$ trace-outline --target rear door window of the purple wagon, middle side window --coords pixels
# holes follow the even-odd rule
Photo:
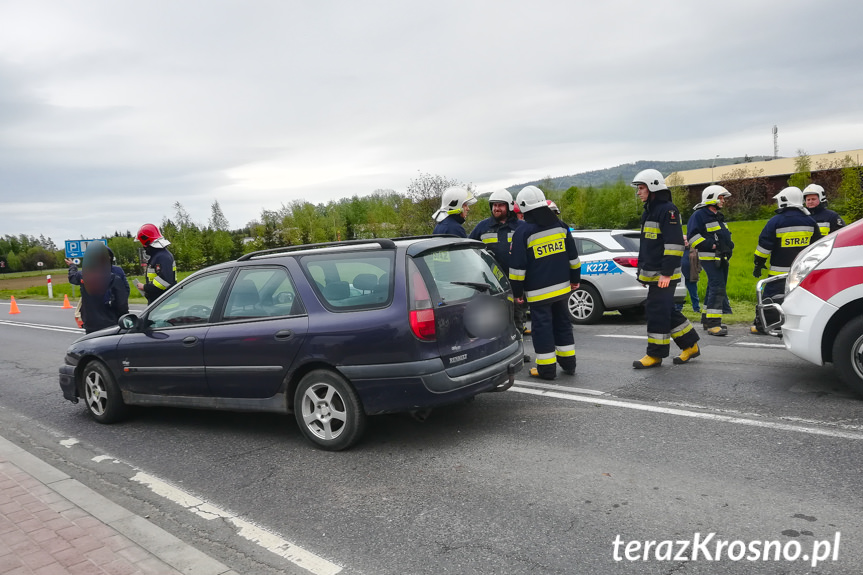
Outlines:
[[[254,319],[304,313],[288,271],[283,267],[240,270],[225,305],[224,319]]]

